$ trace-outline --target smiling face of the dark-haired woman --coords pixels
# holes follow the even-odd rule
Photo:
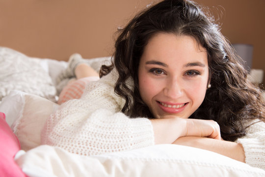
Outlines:
[[[141,98],[155,118],[189,118],[207,90],[206,49],[190,36],[157,33],[144,49],[138,79]]]

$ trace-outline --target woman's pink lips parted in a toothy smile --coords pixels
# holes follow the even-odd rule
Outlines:
[[[185,109],[185,106],[187,103],[178,103],[178,104],[173,104],[173,103],[165,103],[165,102],[159,102],[157,101],[159,107],[162,109],[162,111],[171,113],[171,114],[176,114],[180,113]]]

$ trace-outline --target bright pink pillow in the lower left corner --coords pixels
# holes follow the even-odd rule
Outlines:
[[[0,112],[0,174],[1,177],[26,177],[14,161],[20,144],[5,121],[4,113]]]

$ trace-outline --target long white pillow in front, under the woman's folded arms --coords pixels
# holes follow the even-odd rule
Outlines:
[[[15,161],[30,177],[265,177],[262,169],[180,145],[156,145],[97,156],[81,156],[43,145],[19,151]]]

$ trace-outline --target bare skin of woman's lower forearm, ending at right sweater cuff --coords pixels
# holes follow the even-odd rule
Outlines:
[[[210,150],[240,162],[245,162],[244,149],[241,144],[205,137],[181,137],[173,144]]]

